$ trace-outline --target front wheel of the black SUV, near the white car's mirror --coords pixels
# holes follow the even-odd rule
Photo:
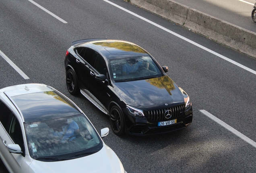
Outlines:
[[[118,106],[110,110],[110,125],[116,135],[124,135],[124,113]]]

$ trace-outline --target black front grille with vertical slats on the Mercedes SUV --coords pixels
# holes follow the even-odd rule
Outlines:
[[[172,112],[172,116],[170,119],[175,119],[182,116],[185,112],[185,105],[171,107],[169,109],[159,109],[153,111],[144,111],[145,116],[150,121],[167,121],[168,119],[165,118],[165,111],[170,110]]]

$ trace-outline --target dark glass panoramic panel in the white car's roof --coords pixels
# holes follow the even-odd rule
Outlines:
[[[81,114],[55,91],[43,91],[11,97],[21,110],[25,123]]]

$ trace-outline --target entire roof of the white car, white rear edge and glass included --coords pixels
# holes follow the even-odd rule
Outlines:
[[[81,114],[69,99],[45,84],[21,84],[1,92],[12,101],[25,123]]]

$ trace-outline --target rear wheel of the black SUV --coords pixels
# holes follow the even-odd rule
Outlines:
[[[66,86],[71,95],[77,95],[79,93],[78,81],[72,69],[68,69],[66,73]]]

